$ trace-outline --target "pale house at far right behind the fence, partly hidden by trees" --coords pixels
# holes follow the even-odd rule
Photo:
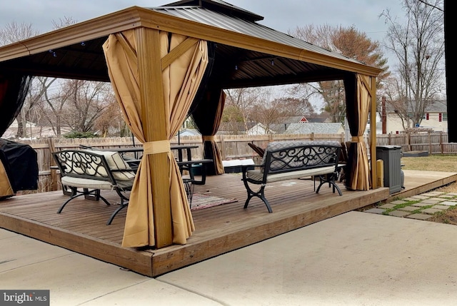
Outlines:
[[[426,107],[421,125],[417,128],[427,128],[436,132],[448,131],[448,113],[446,101],[435,101]],[[386,133],[398,134],[404,131],[401,118],[394,108],[386,105]]]

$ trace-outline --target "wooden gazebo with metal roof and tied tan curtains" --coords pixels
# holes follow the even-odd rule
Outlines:
[[[179,1],[132,6],[3,46],[0,121],[12,122],[31,76],[111,82],[126,122],[144,146],[126,216],[125,247],[164,248],[185,244],[191,236],[194,223],[169,140],[189,112],[197,124],[199,118],[214,117],[201,125],[209,124],[204,141],[214,149],[214,172],[220,173],[212,136],[224,88],[343,80],[352,136],[346,187],[377,188],[376,166],[368,165],[361,136],[371,116],[369,150],[376,156],[381,70],[269,29],[257,23],[262,19],[220,0]]]

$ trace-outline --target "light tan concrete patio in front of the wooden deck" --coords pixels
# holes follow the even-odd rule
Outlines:
[[[0,230],[0,290],[49,289],[59,306],[455,305],[456,237],[350,212],[153,279]]]

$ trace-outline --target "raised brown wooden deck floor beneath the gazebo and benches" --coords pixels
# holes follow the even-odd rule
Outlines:
[[[424,193],[456,180],[457,173],[405,171],[406,189],[400,193],[389,195],[388,188],[349,191],[341,184],[343,196],[326,186],[319,194],[314,193],[312,180],[288,180],[266,188],[273,208],[273,213],[268,213],[257,198],[243,209],[246,191],[241,175],[211,176],[206,185],[196,185],[195,193],[236,198],[238,202],[195,210],[196,230],[188,243],[160,250],[121,248],[126,210],[106,225],[117,205],[106,206],[102,201],[81,198],[57,214],[68,198],[61,191],[16,195],[1,201],[0,228],[156,277],[341,213]],[[118,202],[114,191],[103,194],[111,203]]]

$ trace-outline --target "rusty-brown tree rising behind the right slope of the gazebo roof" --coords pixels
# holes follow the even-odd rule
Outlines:
[[[371,66],[383,69],[378,76],[378,88],[381,81],[388,76],[387,59],[383,56],[378,41],[371,41],[366,34],[357,31],[354,26],[313,26],[297,27],[291,32],[292,36],[316,44],[333,52],[341,53],[350,58],[356,58]],[[301,95],[299,94],[301,93]],[[344,84],[341,80],[323,81],[318,83],[297,84],[291,88],[291,94],[301,98],[320,96],[323,99],[322,111],[331,116],[332,122],[344,122],[346,116],[346,99]]]

